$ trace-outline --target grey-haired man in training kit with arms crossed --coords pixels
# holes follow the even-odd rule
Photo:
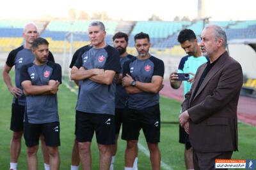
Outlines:
[[[109,170],[110,145],[115,143],[115,75],[120,73],[118,51],[105,42],[105,26],[88,27],[92,47],[79,55],[71,79],[79,81],[76,106],[76,140],[83,169],[92,169],[90,145],[94,131],[100,152],[100,169]]]

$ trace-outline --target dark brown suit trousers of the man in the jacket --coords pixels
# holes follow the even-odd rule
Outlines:
[[[230,152],[197,152],[193,149],[193,164],[195,170],[213,170],[215,169],[215,159],[231,159]]]

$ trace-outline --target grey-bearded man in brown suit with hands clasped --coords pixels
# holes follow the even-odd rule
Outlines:
[[[214,169],[215,159],[230,159],[237,150],[237,103],[243,85],[240,64],[225,50],[221,27],[202,31],[200,48],[209,62],[198,68],[182,103],[179,122],[189,133],[195,169]]]

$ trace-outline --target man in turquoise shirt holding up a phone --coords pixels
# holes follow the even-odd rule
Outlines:
[[[182,57],[177,72],[170,74],[170,84],[173,89],[179,89],[182,81],[179,80],[177,73],[188,73],[195,76],[196,70],[199,66],[207,62],[207,58],[202,56],[200,46],[198,45],[195,32],[191,29],[184,29],[180,31],[178,36],[180,46],[188,54]],[[189,80],[183,81],[184,95],[189,92],[194,78],[190,77]],[[179,143],[185,144],[184,160],[186,169],[194,169],[193,167],[193,152],[191,144],[189,143],[188,134],[184,128],[179,125]]]

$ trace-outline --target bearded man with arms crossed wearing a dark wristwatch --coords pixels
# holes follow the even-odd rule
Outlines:
[[[133,169],[138,137],[143,129],[152,169],[161,167],[159,90],[164,76],[164,62],[148,53],[150,39],[140,32],[134,36],[138,57],[124,63],[122,84],[129,94],[124,110],[122,139],[127,140],[125,170]]]

